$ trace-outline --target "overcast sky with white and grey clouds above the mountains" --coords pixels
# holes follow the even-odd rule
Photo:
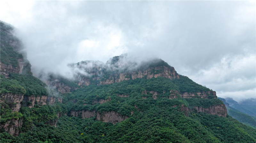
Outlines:
[[[237,101],[256,98],[255,1],[1,1],[34,73],[124,53],[158,57]]]

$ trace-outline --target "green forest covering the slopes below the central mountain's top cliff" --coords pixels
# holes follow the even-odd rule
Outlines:
[[[25,79],[26,76],[28,75],[11,74],[8,80],[16,80],[22,87],[25,83],[40,85],[36,79],[32,80],[29,77]],[[26,87],[24,86],[24,89]],[[170,96],[170,90],[182,92],[184,87],[189,92],[210,91],[185,76],[173,80],[158,77],[128,80],[111,85],[92,84],[65,94],[62,104],[51,106],[36,104],[34,108],[22,107],[19,113],[3,111],[5,121],[8,118],[23,118],[23,125],[17,137],[1,130],[1,142],[253,143],[256,141],[256,129],[241,124],[229,116],[223,118],[204,113],[188,113],[182,109],[194,106],[207,108],[211,105],[223,104],[219,99],[166,98]],[[145,90],[158,92],[157,99],[155,100],[149,92],[147,95],[144,94]],[[121,94],[129,97],[118,97]],[[102,99],[105,103],[100,104]],[[96,116],[85,119],[70,117],[70,110],[94,110],[99,113],[116,111],[129,118],[113,125],[97,121]],[[65,115],[66,113],[68,116]],[[58,114],[61,115],[59,120]],[[57,126],[54,127],[57,120]]]

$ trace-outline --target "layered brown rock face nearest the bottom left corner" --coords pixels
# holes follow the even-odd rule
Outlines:
[[[1,124],[1,129],[10,133],[13,136],[18,136],[20,133],[19,127],[23,124],[23,118],[11,119],[5,124]]]

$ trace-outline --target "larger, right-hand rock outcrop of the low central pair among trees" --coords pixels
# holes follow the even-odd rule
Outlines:
[[[115,111],[103,112],[101,114],[99,112],[97,112],[97,117],[96,117],[96,119],[99,121],[110,122],[112,124],[116,124],[117,122],[122,122],[127,118],[128,118],[127,116],[120,115],[119,113],[116,113]]]

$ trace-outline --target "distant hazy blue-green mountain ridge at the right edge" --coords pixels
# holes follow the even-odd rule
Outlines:
[[[232,108],[230,106],[230,104],[228,104],[226,102],[226,100],[224,98],[220,98],[220,97],[218,97],[218,98],[220,100],[222,100],[223,103],[225,104],[229,116],[231,116],[232,118],[235,118],[236,120],[238,120],[241,123],[244,123],[245,125],[249,125],[249,126],[256,128],[256,118],[255,117],[249,116],[244,112],[241,112],[239,110],[236,110],[235,108]],[[234,102],[234,100],[233,100],[233,103],[237,103],[237,102]],[[246,110],[246,112],[249,112],[249,111]],[[249,113],[251,113],[251,112],[249,112]]]

